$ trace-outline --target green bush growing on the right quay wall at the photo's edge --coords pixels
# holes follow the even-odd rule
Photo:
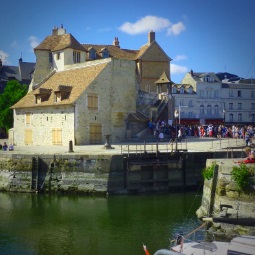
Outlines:
[[[249,185],[253,183],[251,178],[254,175],[254,169],[241,163],[240,166],[234,166],[231,171],[233,180],[237,183],[240,190],[247,190]]]

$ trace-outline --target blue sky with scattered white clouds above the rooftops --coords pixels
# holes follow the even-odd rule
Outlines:
[[[63,24],[80,43],[139,49],[150,30],[172,58],[171,79],[186,72],[255,78],[255,0],[0,0],[0,58],[35,62],[33,48]]]

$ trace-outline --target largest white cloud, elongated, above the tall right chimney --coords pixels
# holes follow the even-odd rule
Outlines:
[[[168,19],[156,16],[145,16],[135,23],[125,22],[119,29],[130,35],[147,33],[150,30],[160,31],[171,26]]]

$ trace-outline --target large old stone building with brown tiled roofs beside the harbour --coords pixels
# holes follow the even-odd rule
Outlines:
[[[155,97],[155,82],[162,73],[170,76],[171,59],[153,31],[140,50],[126,50],[118,38],[113,45],[81,44],[63,26],[54,27],[34,51],[29,93],[12,107],[16,145],[101,144],[106,135],[123,141],[149,120],[137,112],[138,91]]]

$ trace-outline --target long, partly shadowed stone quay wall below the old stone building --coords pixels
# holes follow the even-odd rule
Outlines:
[[[2,154],[0,191],[128,194],[201,185],[212,153],[127,155]]]

